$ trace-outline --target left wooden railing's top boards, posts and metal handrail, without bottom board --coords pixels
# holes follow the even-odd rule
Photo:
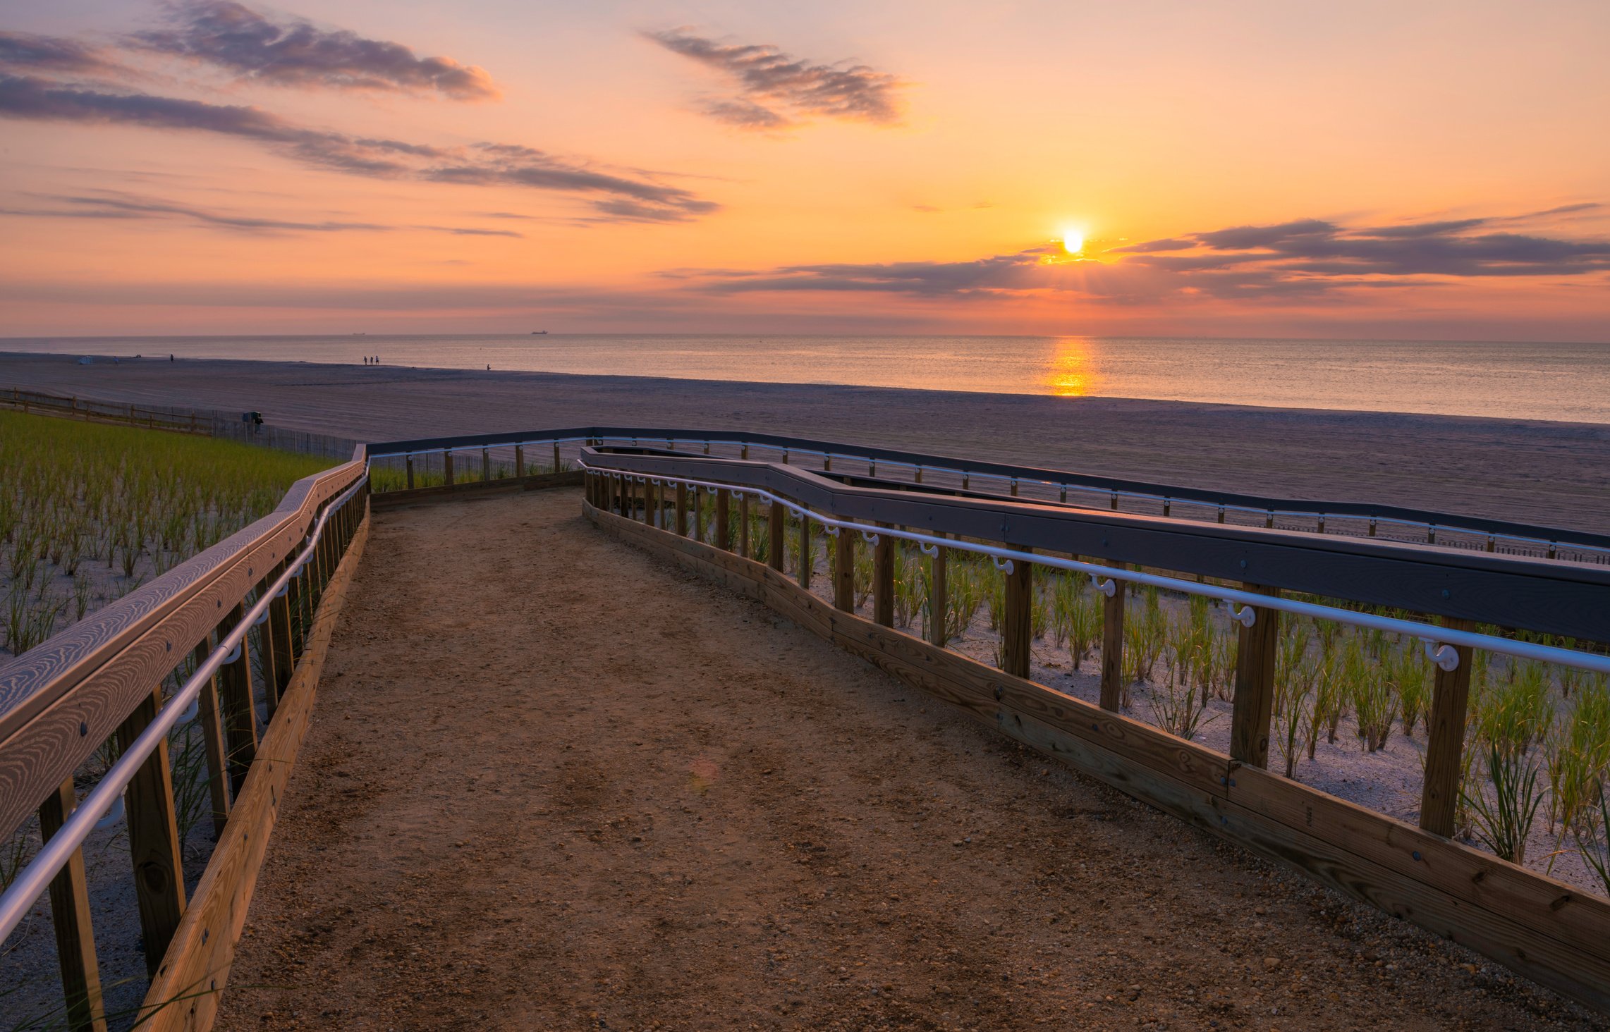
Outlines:
[[[127,823],[156,976],[187,913],[167,731],[198,710],[208,716],[208,779],[222,829],[253,771],[259,700],[272,721],[362,522],[367,486],[357,448],[349,462],[291,485],[272,514],[0,667],[0,836],[37,810],[43,837],[0,895],[0,940],[48,887],[69,1027],[105,1027],[84,840],[97,823]],[[188,662],[195,673],[164,699],[164,679]],[[108,739],[119,758],[79,802],[72,774]]]

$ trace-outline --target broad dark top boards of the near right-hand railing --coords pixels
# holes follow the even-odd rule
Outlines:
[[[650,477],[713,478],[787,494],[865,523],[1011,541],[1035,551],[1388,605],[1417,613],[1610,641],[1610,568],[1430,547],[1380,538],[1319,536],[1055,502],[902,486],[773,462],[644,449],[581,451],[584,462]],[[1008,530],[1003,530],[1003,525]]]

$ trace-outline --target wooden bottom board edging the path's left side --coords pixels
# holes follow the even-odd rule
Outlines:
[[[308,633],[306,650],[280,699],[274,723],[262,737],[258,762],[246,774],[224,836],[196,885],[195,898],[151,979],[151,989],[142,1005],[142,1016],[148,1016],[142,1029],[167,1032],[213,1027],[217,998],[229,979],[235,943],[245,927],[258,871],[262,868],[269,836],[285,795],[285,782],[308,734],[330,634],[335,631],[335,620],[362,560],[367,539],[365,515],[346,549],[346,557],[325,586],[324,602]]]

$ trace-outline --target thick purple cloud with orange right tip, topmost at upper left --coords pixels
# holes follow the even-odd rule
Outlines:
[[[320,29],[291,18],[272,21],[229,0],[190,0],[171,8],[166,29],[137,32],[132,47],[211,64],[254,82],[330,90],[435,92],[451,100],[496,100],[483,69],[452,58],[420,58],[402,43]]]

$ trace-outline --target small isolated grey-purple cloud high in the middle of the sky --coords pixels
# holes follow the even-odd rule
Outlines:
[[[898,126],[898,77],[865,64],[810,64],[770,43],[718,43],[689,29],[646,39],[729,77],[739,95],[708,101],[705,114],[739,129],[774,130],[818,116]]]

